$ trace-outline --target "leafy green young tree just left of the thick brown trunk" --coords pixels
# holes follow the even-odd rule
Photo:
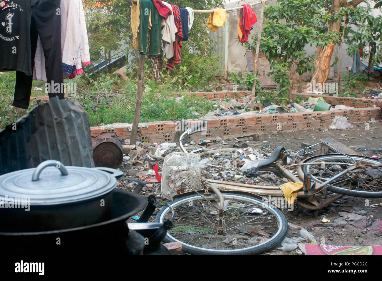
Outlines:
[[[324,7],[320,1],[310,0],[283,0],[265,6],[260,51],[270,63],[268,75],[278,83],[278,98],[282,102],[289,97],[291,76],[314,70],[316,55],[309,55],[305,47],[324,47],[338,38],[338,32],[327,31],[326,21],[332,15],[322,13]],[[246,47],[256,50],[256,32],[252,39]]]

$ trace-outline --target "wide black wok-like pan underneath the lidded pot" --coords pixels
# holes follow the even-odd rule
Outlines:
[[[131,235],[125,222],[143,210],[146,204],[147,200],[142,195],[115,188],[112,190],[111,216],[107,221],[55,231],[0,231],[0,243],[5,252],[17,257],[31,255],[31,258],[36,258],[40,255],[56,259],[60,254],[66,258],[68,253],[71,253],[71,260],[83,255],[100,260],[102,257],[111,258],[111,254],[119,257],[126,250],[134,252],[137,247],[143,249],[144,245],[135,245],[139,244],[137,239],[126,242]]]

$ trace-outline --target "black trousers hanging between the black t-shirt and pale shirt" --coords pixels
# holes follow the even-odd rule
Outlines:
[[[62,52],[61,52],[61,16],[57,12],[61,0],[42,0],[42,3],[32,8],[31,19],[31,53],[32,70],[36,54],[37,36],[40,36],[44,50],[45,71],[47,83],[63,83]],[[58,15],[57,15],[58,13]],[[61,85],[61,84],[60,84]],[[53,84],[54,86],[54,84]],[[60,89],[62,87],[60,86]],[[16,71],[16,86],[13,106],[28,109],[32,90],[32,76]],[[64,98],[64,93],[48,93],[49,97]]]

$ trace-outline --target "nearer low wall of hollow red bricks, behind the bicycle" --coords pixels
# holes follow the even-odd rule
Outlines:
[[[356,108],[351,110],[329,110],[312,113],[284,113],[284,114],[240,114],[236,116],[212,117],[206,119],[188,120],[191,125],[207,122],[206,133],[191,135],[191,140],[202,138],[234,138],[240,136],[253,136],[277,131],[309,130],[311,128],[327,128],[336,116],[345,116],[350,123],[369,121],[371,118],[382,119],[379,107]],[[172,121],[139,123],[137,141],[162,143],[175,141],[177,124]],[[91,127],[92,136],[101,132],[116,132],[120,140],[130,138],[131,132],[127,125],[106,125],[104,127]]]

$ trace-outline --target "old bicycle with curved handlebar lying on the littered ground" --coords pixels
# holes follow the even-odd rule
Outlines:
[[[204,125],[199,123],[180,136],[179,145],[185,153],[183,138],[202,132]],[[376,159],[324,154],[288,167],[288,155],[279,146],[269,159],[259,164],[258,170],[287,177],[291,182],[303,182],[293,203],[294,212],[297,205],[310,210],[322,209],[343,195],[382,197],[382,162]],[[176,167],[179,173],[181,166]],[[290,167],[297,170],[298,177]],[[163,180],[162,174],[162,183]],[[284,198],[279,186],[239,184],[202,176],[199,180],[202,189],[198,190],[185,180],[176,182],[175,201],[157,214],[157,222],[163,223],[173,215],[170,207],[175,212],[174,227],[168,230],[165,242],[181,242],[183,251],[191,254],[257,254],[273,249],[285,238],[286,218],[268,199]],[[191,191],[183,192],[186,187]]]

